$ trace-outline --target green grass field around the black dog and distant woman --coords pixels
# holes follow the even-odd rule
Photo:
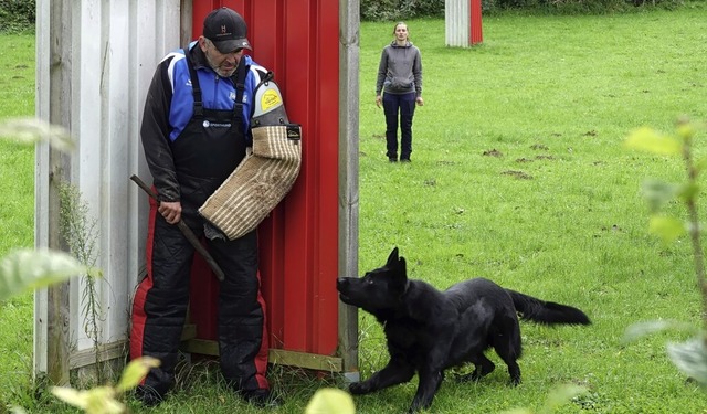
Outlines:
[[[682,181],[683,167],[623,146],[639,126],[672,131],[683,114],[707,119],[707,8],[693,4],[630,15],[487,18],[484,43],[467,50],[444,46],[441,20],[409,21],[422,51],[425,99],[415,113],[410,164],[388,162],[374,105],[378,60],[393,23],[362,23],[361,272],[399,246],[411,276],[440,288],[485,276],[572,304],[594,322],[524,323],[520,386],[508,386],[505,365],[490,354],[493,374],[476,384],[445,382],[431,412],[539,412],[548,393],[567,383],[588,392],[560,413],[707,412],[704,392],[665,353],[667,341],[685,335],[622,342],[625,329],[644,320],[700,323],[688,241],[666,246],[650,236],[639,193],[646,177]],[[32,44],[0,36],[0,118],[33,113]],[[697,141],[700,153],[706,137]],[[32,245],[33,157],[0,142],[0,160],[3,254]],[[677,204],[671,211],[684,214]],[[33,413],[73,412],[30,396],[31,318],[31,298],[0,307],[0,401]],[[386,361],[380,328],[361,314],[361,375]],[[287,402],[279,413],[302,413],[314,390],[333,384],[277,368],[272,379]],[[413,380],[357,397],[358,412],[404,412],[415,386]],[[210,371],[184,381],[157,408],[130,407],[264,412],[241,404]]]

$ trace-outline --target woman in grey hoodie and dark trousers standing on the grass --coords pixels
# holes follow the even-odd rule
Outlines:
[[[386,114],[386,155],[398,162],[398,115],[400,114],[400,161],[410,162],[412,117],[415,105],[422,106],[422,57],[408,39],[403,22],[393,29],[394,40],[383,47],[376,81],[376,105]],[[382,94],[382,96],[381,96]]]

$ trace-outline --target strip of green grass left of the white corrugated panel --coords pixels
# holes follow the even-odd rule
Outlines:
[[[0,119],[34,113],[34,36],[0,35]],[[0,257],[34,245],[34,151],[0,139]],[[27,396],[32,369],[32,296],[0,305],[0,413]],[[15,403],[19,403],[15,401]]]

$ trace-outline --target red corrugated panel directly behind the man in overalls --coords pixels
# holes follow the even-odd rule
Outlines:
[[[226,6],[249,24],[253,59],[275,73],[291,121],[302,124],[303,162],[292,191],[260,225],[261,280],[271,348],[333,355],[338,344],[338,1],[193,0],[203,18]],[[214,339],[218,282],[192,267],[191,321]]]

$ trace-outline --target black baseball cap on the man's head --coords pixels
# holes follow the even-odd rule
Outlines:
[[[215,9],[203,21],[203,36],[209,39],[221,53],[251,47],[245,34],[247,25],[241,14],[229,8]]]

